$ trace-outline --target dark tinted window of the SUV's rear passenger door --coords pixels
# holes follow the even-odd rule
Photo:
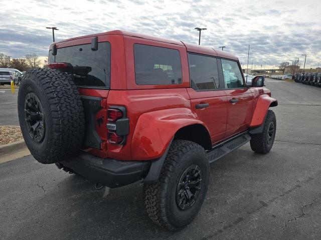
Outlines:
[[[215,57],[189,53],[192,87],[196,90],[219,88],[219,75]]]

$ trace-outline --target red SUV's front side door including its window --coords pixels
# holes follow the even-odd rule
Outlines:
[[[246,86],[238,61],[220,59],[221,88],[227,94],[225,138],[247,129],[253,111],[253,94]]]

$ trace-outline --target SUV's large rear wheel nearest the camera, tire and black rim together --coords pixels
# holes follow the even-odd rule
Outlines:
[[[200,211],[209,182],[209,161],[202,146],[173,141],[157,182],[144,184],[148,216],[175,230],[188,225]]]

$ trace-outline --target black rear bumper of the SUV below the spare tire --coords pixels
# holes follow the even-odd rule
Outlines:
[[[83,153],[77,158],[60,161],[57,165],[114,188],[144,178],[149,171],[151,161],[123,161]]]

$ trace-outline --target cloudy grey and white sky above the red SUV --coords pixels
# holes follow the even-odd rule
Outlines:
[[[321,65],[320,0],[1,0],[0,52],[14,57],[48,54],[56,40],[122,29],[224,50],[250,65],[271,67],[307,54]],[[303,60],[304,61],[304,60]],[[303,66],[303,64],[302,64]]]

